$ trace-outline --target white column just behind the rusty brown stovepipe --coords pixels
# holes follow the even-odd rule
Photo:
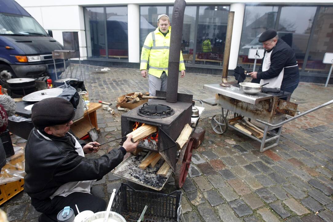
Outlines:
[[[228,67],[229,70],[234,69],[237,66],[240,37],[242,35],[244,10],[245,10],[244,3],[230,4],[230,11],[235,12],[235,16],[232,28],[232,39],[231,39],[229,67]]]

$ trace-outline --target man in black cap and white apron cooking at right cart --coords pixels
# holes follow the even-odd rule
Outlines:
[[[258,72],[251,72],[252,82],[268,83],[265,87],[293,92],[299,83],[299,71],[294,51],[279,39],[274,29],[264,31],[259,42],[265,49]]]

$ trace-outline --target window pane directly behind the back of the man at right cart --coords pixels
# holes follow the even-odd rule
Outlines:
[[[295,52],[298,68],[302,69],[313,18],[317,7],[282,7],[278,35]]]

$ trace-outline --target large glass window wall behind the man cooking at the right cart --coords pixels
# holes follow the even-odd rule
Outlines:
[[[237,65],[252,69],[249,48],[262,48],[260,34],[274,28],[294,50],[301,75],[327,76],[330,64],[323,64],[324,54],[333,52],[333,7],[314,5],[246,5]],[[257,66],[261,60],[256,61]]]

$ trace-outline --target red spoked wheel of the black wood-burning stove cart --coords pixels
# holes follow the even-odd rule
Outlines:
[[[174,184],[177,188],[181,188],[186,180],[189,165],[192,159],[193,139],[190,138],[187,145],[180,150],[179,159],[176,163],[176,171]]]

